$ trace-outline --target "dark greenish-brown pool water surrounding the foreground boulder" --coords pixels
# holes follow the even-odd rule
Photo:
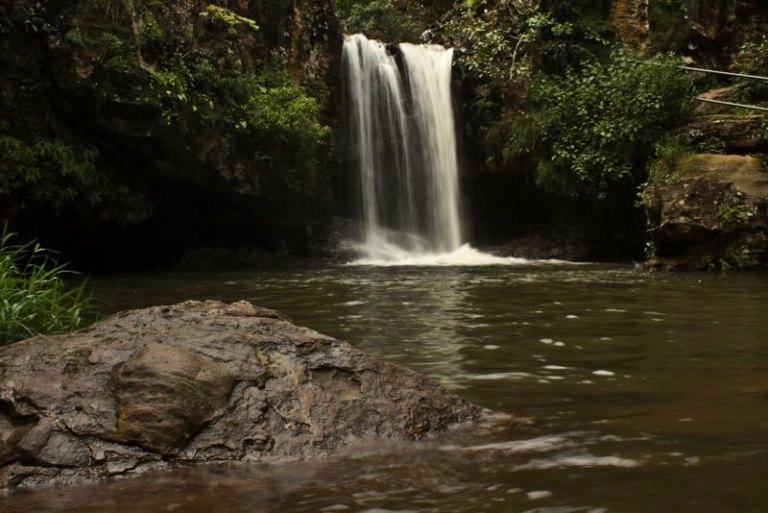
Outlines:
[[[532,422],[22,494],[4,513],[768,511],[768,274],[333,267],[91,284],[106,311],[249,299]]]

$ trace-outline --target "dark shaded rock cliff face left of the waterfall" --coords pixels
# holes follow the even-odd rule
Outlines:
[[[340,30],[331,0],[2,3],[0,137],[93,150],[91,185],[117,192],[43,212],[0,187],[0,219],[75,260],[141,247],[157,261],[211,239],[302,246],[333,208],[320,128],[302,125],[331,124]],[[250,103],[258,87],[272,96]],[[263,127],[236,115],[270,105]]]

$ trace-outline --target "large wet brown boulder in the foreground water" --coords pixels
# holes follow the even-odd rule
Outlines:
[[[248,302],[154,307],[0,351],[0,489],[320,456],[479,415]]]

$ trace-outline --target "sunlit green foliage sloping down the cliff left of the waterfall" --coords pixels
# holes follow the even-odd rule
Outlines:
[[[209,48],[191,26],[174,23],[167,2],[134,0],[129,9],[125,0],[84,1],[69,41],[101,66],[96,94],[148,107],[167,129],[217,133],[226,154],[215,158],[227,163],[211,164],[240,192],[263,192],[265,177],[311,188],[330,132],[323,105],[288,75],[280,55],[241,56],[241,37],[258,30],[253,20],[208,5],[202,27],[226,36]]]

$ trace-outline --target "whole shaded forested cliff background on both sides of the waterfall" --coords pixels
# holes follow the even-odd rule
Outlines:
[[[761,117],[701,125],[693,98],[733,83],[677,66],[767,73],[766,19],[735,0],[2,2],[0,219],[84,269],[328,255],[354,201],[340,47],[362,31],[460,49],[473,243],[642,259],[681,159],[763,159]],[[721,228],[751,219],[734,198]]]

